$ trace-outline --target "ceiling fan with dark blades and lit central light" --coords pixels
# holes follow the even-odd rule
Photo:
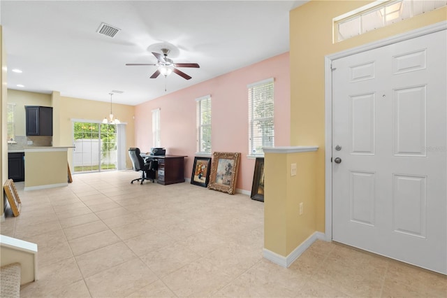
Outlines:
[[[186,78],[186,80],[189,80],[191,76],[188,76],[183,71],[179,71],[177,67],[193,67],[198,69],[200,66],[197,63],[174,63],[172,59],[168,58],[168,54],[170,50],[166,48],[162,48],[161,52],[163,52],[163,55],[159,54],[158,52],[152,52],[152,55],[156,57],[158,62],[156,64],[153,63],[127,63],[128,66],[140,66],[140,65],[154,65],[158,66],[158,69],[152,73],[151,78],[156,78],[160,75],[160,73],[167,77],[170,75],[170,73],[177,73],[177,75],[181,76],[182,78]]]

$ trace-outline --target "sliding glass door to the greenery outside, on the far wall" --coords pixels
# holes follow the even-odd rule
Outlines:
[[[117,169],[117,125],[73,121],[73,171]]]

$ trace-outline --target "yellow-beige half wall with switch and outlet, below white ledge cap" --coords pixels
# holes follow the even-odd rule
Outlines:
[[[316,155],[265,153],[264,248],[271,252],[286,257],[316,230]],[[296,164],[296,176],[291,176],[291,164]]]

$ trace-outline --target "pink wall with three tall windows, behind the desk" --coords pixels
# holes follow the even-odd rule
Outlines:
[[[187,155],[186,178],[196,153],[196,101],[212,98],[212,151],[241,152],[236,188],[251,192],[254,159],[248,155],[247,85],[274,78],[274,146],[290,146],[290,68],[288,52],[167,94],[135,107],[135,146],[152,146],[152,110],[160,108],[161,146],[166,154]]]

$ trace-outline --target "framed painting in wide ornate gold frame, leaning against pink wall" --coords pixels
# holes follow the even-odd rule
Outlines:
[[[239,170],[240,153],[214,152],[210,172],[210,190],[235,193],[237,171]]]

